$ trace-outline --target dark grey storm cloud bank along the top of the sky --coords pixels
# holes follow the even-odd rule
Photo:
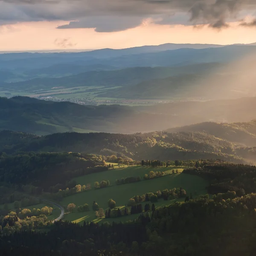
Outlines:
[[[247,10],[256,10],[256,0],[0,0],[0,24],[72,20],[58,28],[112,32],[157,17],[158,24],[209,24],[221,29]]]

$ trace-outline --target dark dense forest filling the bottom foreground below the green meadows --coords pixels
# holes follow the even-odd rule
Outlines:
[[[6,256],[253,255],[256,194],[208,197],[158,207],[128,223],[58,222],[47,233],[2,236],[1,251]]]

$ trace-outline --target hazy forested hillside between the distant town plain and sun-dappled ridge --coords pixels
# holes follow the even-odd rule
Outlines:
[[[256,100],[253,97],[227,101],[174,102],[128,107],[79,105],[19,96],[11,99],[0,98],[0,130],[22,131],[38,135],[66,131],[132,134],[208,121],[248,122],[255,118],[253,106],[256,108]],[[204,129],[195,128],[191,131],[201,132]],[[251,130],[249,129],[246,133],[251,133]],[[212,135],[218,137],[216,133]],[[245,139],[240,141],[239,136],[231,141],[241,143],[244,140],[245,143]],[[250,141],[251,135],[247,134],[247,136],[249,139],[245,144],[253,146],[254,139]]]

